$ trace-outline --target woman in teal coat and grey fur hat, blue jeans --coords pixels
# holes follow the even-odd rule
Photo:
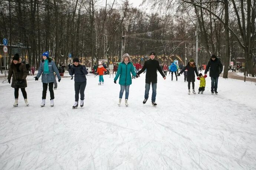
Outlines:
[[[134,67],[132,64],[132,60],[129,56],[129,54],[124,54],[122,62],[119,64],[116,76],[114,78],[114,83],[116,83],[116,80],[118,79],[119,75],[119,84],[121,86],[120,93],[119,93],[119,102],[118,105],[121,105],[122,96],[124,94],[125,90],[125,105],[128,106],[128,96],[129,96],[129,87],[132,84],[132,77],[136,76],[136,73],[134,71]]]

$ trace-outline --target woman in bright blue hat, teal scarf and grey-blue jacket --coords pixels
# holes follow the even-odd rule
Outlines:
[[[50,106],[54,106],[54,102],[53,102],[53,99],[54,99],[53,84],[55,79],[54,72],[56,73],[59,79],[59,82],[61,77],[55,65],[55,62],[53,62],[52,58],[49,57],[49,52],[48,51],[44,52],[42,56],[43,56],[43,59],[40,62],[38,73],[35,76],[35,80],[37,81],[42,74],[43,94],[42,94],[41,107],[45,106],[46,91],[47,91],[48,84],[49,84],[49,91],[50,91],[50,102],[51,102]]]

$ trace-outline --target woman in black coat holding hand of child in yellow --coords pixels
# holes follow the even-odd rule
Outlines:
[[[180,76],[180,74],[182,74],[186,69],[188,70],[187,71],[188,94],[190,94],[190,82],[192,82],[193,93],[196,94],[196,92],[195,92],[195,73],[196,73],[196,76],[198,76],[198,71],[197,71],[196,64],[194,63],[193,58],[190,59],[190,62],[188,62],[186,67],[184,67],[181,70],[181,72],[178,74],[178,76]]]

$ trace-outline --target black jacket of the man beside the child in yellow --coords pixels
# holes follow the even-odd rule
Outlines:
[[[206,66],[204,74],[207,74],[207,72],[209,71],[209,68],[210,68],[210,77],[219,77],[220,73],[223,70],[223,65],[221,64],[221,61],[219,58],[214,59],[214,61],[210,59]]]

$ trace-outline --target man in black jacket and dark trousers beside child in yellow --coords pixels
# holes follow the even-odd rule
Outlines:
[[[211,94],[213,95],[213,91],[217,95],[217,88],[218,88],[218,79],[223,70],[223,65],[219,58],[216,57],[215,54],[211,55],[211,58],[206,66],[204,71],[204,75],[207,74],[210,68],[210,77],[211,77]]]

